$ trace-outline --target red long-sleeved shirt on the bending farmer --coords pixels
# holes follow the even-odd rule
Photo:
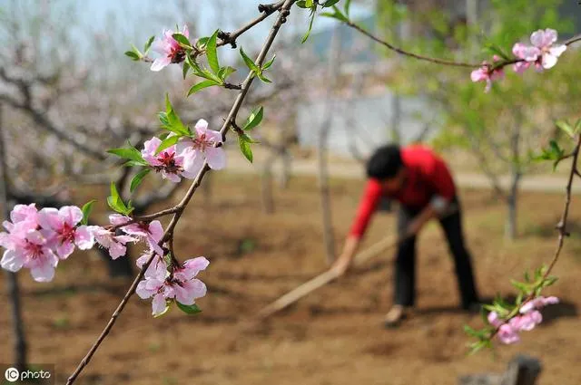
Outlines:
[[[370,178],[350,229],[351,236],[363,236],[382,196],[396,199],[410,209],[419,210],[428,206],[430,199],[435,196],[450,202],[456,195],[448,166],[431,149],[419,145],[401,148],[401,160],[407,169],[404,186],[395,193],[388,193],[381,188],[377,179]]]

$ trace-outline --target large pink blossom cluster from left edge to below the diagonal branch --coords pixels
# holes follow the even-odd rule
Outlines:
[[[96,243],[116,259],[125,255],[128,243],[144,241],[149,249],[137,260],[137,266],[142,268],[152,255],[153,263],[137,286],[137,294],[143,299],[153,297],[154,315],[167,309],[168,300],[192,305],[206,294],[205,284],[195,276],[209,265],[208,260],[201,256],[182,265],[166,264],[163,256],[167,253],[159,245],[163,237],[159,220],[135,222],[131,217],[112,214],[109,221],[110,226],[83,225],[83,211],[74,206],[38,210],[34,203],[16,205],[10,221],[3,224],[6,232],[0,233],[0,246],[5,248],[0,265],[14,273],[27,268],[34,281],[50,282],[59,261],[72,255],[75,247],[88,250]],[[118,235],[116,229],[123,234]]]

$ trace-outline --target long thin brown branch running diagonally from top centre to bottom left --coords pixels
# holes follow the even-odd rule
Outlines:
[[[262,47],[261,53],[259,54],[259,57],[257,59],[258,65],[261,65],[261,63],[264,61],[264,58],[266,57],[266,54],[269,52],[271,45],[274,42],[274,39],[279,32],[279,29],[281,28],[281,25],[286,22],[286,18],[290,14],[291,5],[293,5],[295,1],[296,0],[285,0],[285,2],[281,5],[281,14],[279,14],[279,17],[277,21],[274,23],[274,25],[272,25],[271,33],[269,34],[266,42]],[[228,118],[226,119],[226,121],[224,121],[224,124],[222,125],[222,130],[220,130],[220,132],[222,133],[222,138],[225,138],[228,127],[230,127],[230,122],[235,120],[238,111],[240,111],[242,102],[244,101],[244,97],[246,96],[248,90],[250,89],[252,79],[253,79],[252,73],[249,73],[246,80],[242,83],[242,89],[238,97],[236,98],[236,101],[234,101],[234,104],[232,105]],[[192,199],[192,196],[195,193],[196,188],[200,186],[200,184],[202,183],[203,176],[206,174],[206,172],[208,172],[209,169],[210,168],[208,167],[207,162],[204,162],[204,165],[200,172],[198,173],[198,176],[192,182],[192,186],[188,189],[188,192],[186,193],[185,197],[182,198],[182,201],[177,205],[177,211],[172,217],[172,222],[170,222],[170,225],[165,229],[162,240],[159,243],[160,245],[163,245],[166,241],[170,239],[170,237],[173,236],[173,229],[177,225],[177,222],[180,219],[180,217],[182,216],[183,210]],[[111,319],[105,325],[103,332],[101,332],[96,342],[94,342],[91,349],[84,356],[84,359],[79,363],[74,373],[68,378],[68,380],[66,381],[66,385],[71,385],[74,382],[74,380],[76,380],[76,378],[79,376],[81,371],[83,371],[84,367],[86,367],[89,361],[91,361],[94,352],[97,351],[101,343],[103,343],[105,337],[109,334],[109,332],[113,328],[113,324],[119,317],[119,314],[123,312],[125,304],[129,301],[129,298],[131,298],[133,293],[135,293],[137,284],[139,284],[139,282],[142,280],[143,274],[145,274],[145,271],[153,261],[153,256],[154,254],[152,253],[147,262],[143,265],[142,270],[133,281],[133,284],[131,285],[127,293],[123,296],[123,300],[121,301],[121,303],[119,303],[119,306],[117,306],[117,309],[113,313]]]

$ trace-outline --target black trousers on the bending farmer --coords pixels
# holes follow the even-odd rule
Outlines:
[[[455,198],[453,203],[457,209],[447,216],[440,217],[439,223],[446,234],[449,252],[454,257],[461,306],[466,309],[470,303],[478,302],[478,294],[472,272],[471,257],[464,244],[462,212],[458,198]],[[411,220],[419,215],[419,212],[420,210],[399,207],[398,231],[400,236],[405,232]],[[394,302],[404,306],[413,306],[416,299],[416,236],[403,241],[398,247],[394,284]]]

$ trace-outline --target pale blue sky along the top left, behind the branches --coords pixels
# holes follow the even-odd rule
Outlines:
[[[187,22],[195,37],[208,36],[215,29],[232,31],[246,24],[258,15],[258,5],[269,3],[270,0],[0,0],[0,10],[14,17],[22,16],[31,9],[49,9],[57,17],[58,24],[71,24],[78,42],[78,52],[83,51],[85,39],[94,39],[100,34],[113,34],[118,45],[115,50],[126,50],[130,44],[143,47],[143,43],[151,35],[159,36],[163,28],[175,29]],[[225,4],[220,9],[216,4]],[[18,6],[18,11],[11,13],[10,9]],[[73,5],[74,12],[67,9]],[[26,9],[28,8],[28,9]],[[351,5],[351,16],[354,19],[369,14],[369,8],[360,5]],[[185,14],[185,15],[184,15]],[[294,8],[289,23],[281,30],[288,37],[296,37],[300,43],[300,36],[308,28],[307,10]],[[24,17],[24,16],[22,16]],[[256,25],[248,33],[241,36],[239,46],[246,51],[259,47],[267,36],[272,20],[271,17]],[[317,17],[313,31],[320,31],[337,24],[337,21],[327,17]],[[192,29],[197,28],[197,31]],[[248,49],[247,49],[248,48]],[[222,50],[226,61],[238,53],[235,50]]]

